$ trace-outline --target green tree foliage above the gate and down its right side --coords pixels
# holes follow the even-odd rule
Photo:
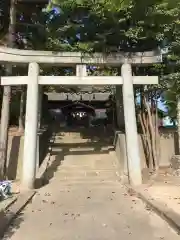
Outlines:
[[[8,2],[3,1],[6,5],[0,9],[7,9]],[[161,77],[159,87],[167,91],[164,101],[169,109],[176,108],[170,103],[179,96],[175,77],[180,72],[179,0],[51,0],[45,11],[36,5],[31,14],[25,5],[17,5],[16,31],[16,46],[25,49],[108,53],[168,47],[164,63],[145,73]]]

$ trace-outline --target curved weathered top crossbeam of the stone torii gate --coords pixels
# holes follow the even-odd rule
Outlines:
[[[86,54],[81,52],[50,52],[0,47],[0,63],[28,64],[36,62],[58,66],[75,66],[77,64],[119,66],[125,62],[135,65],[150,65],[161,61],[162,55],[160,51]]]

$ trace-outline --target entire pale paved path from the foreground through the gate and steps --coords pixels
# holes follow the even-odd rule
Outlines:
[[[78,151],[72,144],[62,151],[57,140],[55,145],[49,184],[39,190],[3,240],[179,239],[164,220],[127,193],[108,147],[92,150],[92,143],[87,148],[80,141]]]

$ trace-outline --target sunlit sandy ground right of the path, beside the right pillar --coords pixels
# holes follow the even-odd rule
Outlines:
[[[180,234],[180,179],[171,174],[158,174],[148,184],[131,188],[157,214]]]

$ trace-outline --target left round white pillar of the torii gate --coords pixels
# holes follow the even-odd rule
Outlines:
[[[29,64],[29,81],[26,100],[26,120],[24,136],[23,157],[23,189],[33,189],[36,176],[37,157],[37,128],[38,128],[38,77],[39,66],[37,63]]]

